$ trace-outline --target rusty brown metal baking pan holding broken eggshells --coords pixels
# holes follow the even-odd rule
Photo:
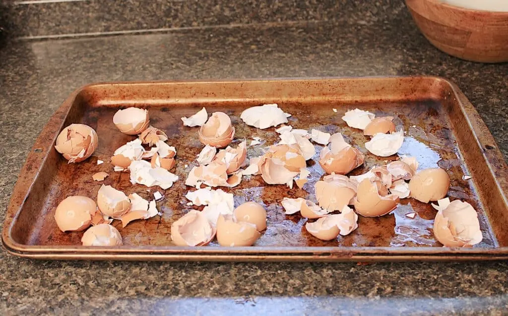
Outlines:
[[[236,138],[260,136],[266,145],[276,139],[274,128],[259,130],[243,124],[239,116],[250,106],[278,103],[293,116],[295,128],[323,127],[342,132],[366,153],[367,140],[341,120],[347,109],[360,108],[376,115],[394,116],[407,132],[399,153],[416,156],[420,166],[440,167],[450,174],[449,196],[471,203],[479,213],[483,241],[474,248],[444,248],[432,234],[435,210],[430,204],[403,199],[393,214],[359,219],[359,228],[337,240],[321,241],[305,231],[300,215],[283,214],[284,196],[313,196],[313,182],[323,171],[308,162],[313,179],[304,188],[267,185],[260,176],[244,179],[231,191],[235,203],[255,200],[268,212],[268,229],[255,247],[175,247],[170,227],[193,206],[184,198],[184,179],[202,148],[197,128],[182,126],[180,117],[223,111],[232,117]],[[108,163],[113,151],[134,136],[120,133],[112,123],[113,114],[124,107],[149,109],[151,124],[163,129],[177,153],[176,174],[180,181],[168,190],[132,185],[129,173],[112,172]],[[337,109],[337,113],[332,109]],[[82,163],[68,164],[53,148],[60,130],[71,123],[92,126],[99,134],[99,147]],[[248,156],[259,155],[249,147]],[[351,174],[366,172],[382,159],[366,155],[365,164]],[[188,165],[185,168],[185,165]],[[126,194],[137,192],[148,198],[155,190],[165,200],[158,202],[163,213],[149,220],[115,226],[123,246],[93,248],[81,246],[82,232],[62,233],[54,223],[56,205],[69,195],[93,199],[101,183],[91,174],[110,171],[104,183]],[[469,181],[462,175],[472,176]],[[225,190],[229,190],[225,188]],[[484,122],[459,88],[436,77],[407,78],[324,78],[269,79],[246,81],[190,81],[100,83],[75,91],[63,102],[41,132],[21,169],[12,193],[3,230],[3,243],[12,254],[40,259],[82,260],[203,260],[203,261],[411,261],[411,260],[499,260],[508,259],[508,169]],[[404,216],[409,210],[415,219]]]

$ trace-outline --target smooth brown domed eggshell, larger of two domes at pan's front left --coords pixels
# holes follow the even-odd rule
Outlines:
[[[91,224],[96,203],[86,196],[74,195],[63,199],[55,210],[55,222],[61,231],[81,231]]]

